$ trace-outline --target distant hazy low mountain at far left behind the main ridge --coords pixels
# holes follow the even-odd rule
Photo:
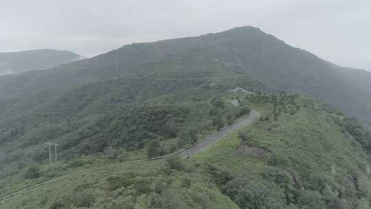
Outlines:
[[[22,52],[0,52],[0,76],[49,69],[64,63],[79,61],[85,57],[74,52],[59,50],[29,50]]]

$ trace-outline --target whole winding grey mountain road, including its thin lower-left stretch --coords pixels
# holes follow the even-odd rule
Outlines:
[[[240,129],[241,127],[246,126],[247,124],[251,124],[252,122],[254,122],[255,118],[258,118],[259,116],[260,115],[259,115],[258,111],[254,110],[254,109],[251,109],[251,111],[250,111],[250,113],[247,117],[242,118],[240,120],[237,120],[236,122],[232,123],[231,125],[224,127],[220,131],[212,133],[211,135],[208,135],[208,136],[204,137],[202,140],[200,140],[196,144],[193,144],[192,146],[190,146],[188,148],[185,148],[182,151],[177,151],[177,152],[172,153],[170,155],[165,155],[165,156],[161,156],[161,157],[154,157],[154,158],[150,158],[150,159],[138,159],[138,160],[134,160],[134,161],[130,161],[130,162],[144,162],[144,161],[155,160],[155,159],[164,159],[164,158],[170,157],[172,155],[179,155],[181,158],[190,157],[191,155],[194,155],[196,153],[199,153],[199,152],[203,151],[203,149],[209,147],[210,145],[214,144],[215,142],[218,142],[218,140],[221,140],[223,137],[225,137],[229,133],[232,133],[233,131],[236,131],[236,129]],[[63,176],[63,177],[66,177],[66,176]],[[38,188],[38,187],[43,186],[45,184],[48,184],[52,181],[57,181],[58,179],[62,179],[63,177],[58,177],[56,179],[51,179],[51,180],[45,181],[41,184],[36,184],[35,186],[32,186],[30,188],[25,188],[23,190],[20,190],[19,192],[15,192],[11,195],[7,195],[5,197],[0,197],[0,202],[5,200],[5,199],[9,199],[9,198],[14,197],[16,195],[19,195],[23,192],[34,190],[35,188]]]

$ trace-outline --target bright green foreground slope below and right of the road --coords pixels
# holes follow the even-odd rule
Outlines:
[[[357,137],[338,125],[341,115],[304,96],[222,96],[225,102],[236,97],[262,119],[190,159],[133,164],[81,158],[80,167],[76,159],[43,166],[44,175],[69,175],[0,206],[368,208],[369,157]]]

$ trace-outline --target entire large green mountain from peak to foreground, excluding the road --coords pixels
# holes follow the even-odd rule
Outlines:
[[[0,208],[368,208],[370,79],[252,27],[0,76],[1,197],[56,179]]]

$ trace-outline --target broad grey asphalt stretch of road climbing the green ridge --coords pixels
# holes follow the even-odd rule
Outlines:
[[[228,135],[229,133],[232,133],[236,129],[240,129],[241,127],[251,124],[254,122],[255,118],[259,117],[259,112],[251,109],[249,116],[247,118],[243,118],[242,120],[238,120],[231,124],[230,126],[226,126],[225,128],[221,129],[221,131],[218,131],[216,133],[212,133],[212,135],[209,135],[205,137],[203,140],[200,142],[194,144],[190,148],[187,148],[186,150],[182,151],[178,155],[182,158],[190,157],[191,155],[194,155],[196,153],[199,153],[203,151],[203,149],[209,147],[212,145],[214,142],[217,142],[218,140],[221,140],[223,137]]]

